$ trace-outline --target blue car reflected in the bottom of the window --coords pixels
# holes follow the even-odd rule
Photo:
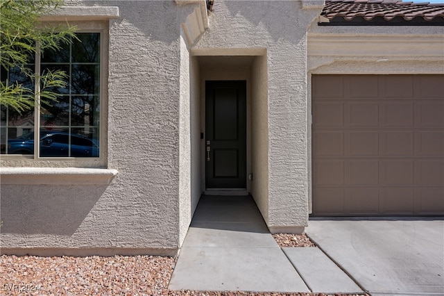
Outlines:
[[[9,139],[8,154],[34,154],[34,133]],[[81,135],[69,135],[64,131],[44,131],[40,133],[40,157],[54,156],[99,157],[99,145],[95,140]]]

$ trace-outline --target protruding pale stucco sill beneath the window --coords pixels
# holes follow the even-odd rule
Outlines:
[[[108,185],[117,170],[78,167],[1,167],[2,185]]]

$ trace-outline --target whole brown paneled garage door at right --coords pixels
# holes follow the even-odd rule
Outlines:
[[[314,75],[314,215],[444,214],[444,75]]]

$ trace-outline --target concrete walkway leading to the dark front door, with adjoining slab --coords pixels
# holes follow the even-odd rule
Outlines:
[[[281,249],[252,197],[203,196],[171,290],[362,293],[317,247]]]

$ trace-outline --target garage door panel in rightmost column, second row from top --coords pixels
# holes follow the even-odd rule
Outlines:
[[[444,103],[438,101],[421,101],[415,105],[418,111],[416,126],[419,128],[444,128]]]

